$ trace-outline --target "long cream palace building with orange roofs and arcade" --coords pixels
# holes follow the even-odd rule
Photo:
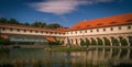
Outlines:
[[[61,41],[64,46],[90,45],[132,46],[132,13],[86,20],[69,29],[47,30],[22,25],[0,24],[0,35],[12,44],[45,44]]]

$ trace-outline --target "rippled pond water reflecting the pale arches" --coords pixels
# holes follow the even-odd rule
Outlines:
[[[132,65],[130,48],[95,48],[88,52],[47,52],[44,49],[13,48],[0,53],[0,65],[12,67],[111,67]]]

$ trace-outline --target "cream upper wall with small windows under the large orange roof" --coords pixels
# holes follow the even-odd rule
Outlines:
[[[98,29],[88,29],[87,33],[86,30],[80,31],[73,31],[73,34],[69,32],[66,32],[66,36],[77,36],[77,35],[98,35],[98,34],[116,34],[116,33],[132,33],[132,24],[131,25],[120,25],[121,30],[119,30],[119,26],[109,26],[109,27],[98,27]],[[128,26],[131,26],[131,29],[128,29]],[[111,27],[113,31],[111,31]],[[106,31],[103,31],[106,29]],[[92,32],[90,32],[92,30]],[[99,30],[99,32],[97,32]],[[77,32],[77,33],[75,33]]]

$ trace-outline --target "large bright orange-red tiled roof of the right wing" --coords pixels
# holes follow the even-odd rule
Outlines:
[[[132,24],[132,13],[82,21],[72,26],[70,30],[94,29],[122,24]]]

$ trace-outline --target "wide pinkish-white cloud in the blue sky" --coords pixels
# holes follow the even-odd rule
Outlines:
[[[62,15],[77,10],[77,7],[79,5],[111,1],[113,0],[46,0],[42,2],[31,2],[28,4],[41,12]]]

